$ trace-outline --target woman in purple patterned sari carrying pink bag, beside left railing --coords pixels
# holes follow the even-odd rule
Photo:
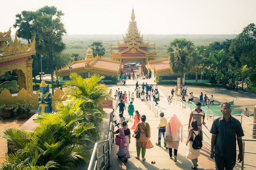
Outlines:
[[[122,126],[123,127],[118,128],[118,130],[116,130],[116,131],[114,131],[114,130],[109,130],[109,131],[113,132],[114,134],[119,133],[119,136],[121,138],[122,138],[122,136],[124,136],[124,146],[118,146],[116,155],[120,159],[124,158],[124,162],[127,162],[128,159],[130,158],[129,144],[131,142],[131,132],[130,132],[130,129],[127,128],[126,121],[122,122]],[[116,136],[116,138],[118,138],[118,136]]]

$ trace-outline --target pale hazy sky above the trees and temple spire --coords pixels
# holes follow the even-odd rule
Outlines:
[[[8,4],[8,2],[10,2]],[[132,7],[142,34],[239,34],[256,23],[256,0],[11,0],[2,3],[0,32],[22,10],[45,5],[64,12],[68,34],[125,34]],[[15,29],[12,28],[12,34]]]

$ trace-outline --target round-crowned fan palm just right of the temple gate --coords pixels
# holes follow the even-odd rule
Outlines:
[[[180,74],[182,84],[183,74],[188,73],[194,65],[192,59],[194,43],[191,40],[186,40],[186,38],[176,38],[170,42],[167,54],[170,56],[169,61],[172,72]]]

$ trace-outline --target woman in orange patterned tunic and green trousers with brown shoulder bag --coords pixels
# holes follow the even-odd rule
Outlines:
[[[140,150],[142,154],[142,161],[145,160],[146,148],[153,148],[154,146],[150,142],[150,125],[146,123],[146,116],[142,115],[140,123],[136,125],[134,133],[137,133],[140,130],[140,137],[136,139],[136,150],[137,156],[136,159],[140,160]]]

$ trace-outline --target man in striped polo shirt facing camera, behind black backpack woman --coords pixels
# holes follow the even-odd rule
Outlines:
[[[189,117],[189,121],[188,121],[188,128],[190,128],[190,123],[191,123],[192,118],[196,119],[196,121],[198,123],[197,126],[202,128],[202,124],[205,124],[204,116],[205,116],[205,113],[201,109],[201,103],[200,102],[196,103],[196,109],[192,110],[190,113],[190,117]]]

